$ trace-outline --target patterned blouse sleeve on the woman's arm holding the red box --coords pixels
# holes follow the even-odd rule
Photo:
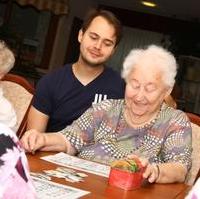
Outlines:
[[[180,162],[189,170],[191,167],[192,129],[183,112],[173,117],[169,125],[162,155],[164,162]]]

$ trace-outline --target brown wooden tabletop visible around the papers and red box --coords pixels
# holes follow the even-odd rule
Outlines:
[[[35,155],[28,154],[28,161],[30,170],[32,172],[39,172],[47,169],[55,169],[58,165],[40,159],[42,156],[50,155],[50,152],[37,152]],[[108,179],[102,176],[97,176],[88,173],[88,177],[84,182],[70,183],[64,179],[52,178],[54,182],[65,184],[68,186],[83,189],[91,192],[82,198],[137,198],[137,199],[182,199],[189,190],[189,186],[185,184],[146,184],[140,189],[133,191],[125,191],[108,185]]]

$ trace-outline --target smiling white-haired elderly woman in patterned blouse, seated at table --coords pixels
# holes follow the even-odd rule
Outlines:
[[[58,133],[27,131],[23,146],[29,152],[64,151],[107,164],[138,156],[146,160],[143,177],[149,182],[183,182],[191,166],[190,122],[164,103],[176,67],[174,56],[161,47],[132,50],[122,71],[125,100],[94,104]]]

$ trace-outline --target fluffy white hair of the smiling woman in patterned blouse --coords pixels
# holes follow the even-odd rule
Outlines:
[[[150,45],[146,49],[133,49],[125,58],[122,69],[122,77],[127,81],[130,72],[142,63],[146,66],[154,65],[160,70],[162,80],[166,86],[173,87],[177,73],[175,57],[166,49]],[[148,68],[147,68],[148,72]]]

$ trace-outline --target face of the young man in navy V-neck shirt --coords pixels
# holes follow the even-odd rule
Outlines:
[[[79,32],[80,56],[91,66],[104,64],[113,54],[116,44],[115,29],[106,19],[98,16],[88,29]]]

